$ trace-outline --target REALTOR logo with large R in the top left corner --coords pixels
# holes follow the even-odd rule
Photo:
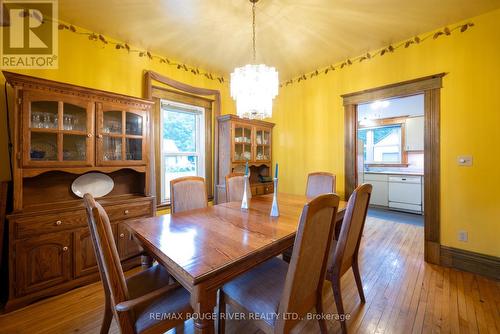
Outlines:
[[[4,0],[1,68],[57,68],[57,0]]]

